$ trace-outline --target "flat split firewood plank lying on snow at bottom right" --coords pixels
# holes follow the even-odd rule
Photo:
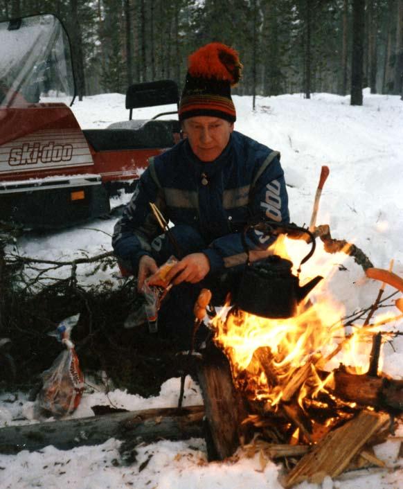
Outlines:
[[[361,411],[357,418],[330,432],[312,452],[292,469],[283,481],[285,488],[302,481],[321,483],[329,475],[337,477],[361,451],[370,436],[388,424],[387,414]]]

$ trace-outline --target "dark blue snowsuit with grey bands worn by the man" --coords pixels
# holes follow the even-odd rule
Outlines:
[[[161,265],[176,254],[166,235],[161,235],[149,204],[154,202],[165,219],[174,224],[172,234],[183,253],[177,258],[199,251],[206,254],[211,266],[206,279],[210,285],[213,281],[220,287],[218,277],[239,270],[247,260],[242,229],[251,216],[289,222],[279,157],[278,152],[234,131],[213,162],[200,161],[187,139],[150,159],[114,229],[112,243],[122,265],[136,274],[141,256],[150,255]],[[267,256],[270,239],[258,231],[248,233],[251,260]],[[197,285],[181,284],[170,292],[171,297],[177,294],[180,298],[181,323],[183,314],[192,323],[192,307],[203,284]],[[186,295],[188,300],[184,300]],[[169,302],[172,300],[166,304],[168,309]],[[171,310],[170,314],[177,316],[177,311]]]

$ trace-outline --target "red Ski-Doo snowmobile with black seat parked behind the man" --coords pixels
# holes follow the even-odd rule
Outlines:
[[[133,190],[150,157],[179,141],[179,121],[135,121],[133,109],[179,103],[172,80],[132,85],[129,120],[82,130],[71,105],[71,46],[54,15],[0,23],[0,222],[71,226],[109,213],[109,197]]]

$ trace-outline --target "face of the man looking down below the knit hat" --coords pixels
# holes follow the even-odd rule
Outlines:
[[[210,116],[190,117],[183,121],[182,127],[190,148],[202,161],[219,157],[233,132],[233,123]]]

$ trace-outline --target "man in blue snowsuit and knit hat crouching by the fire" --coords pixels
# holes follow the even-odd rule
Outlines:
[[[236,287],[247,261],[242,231],[248,220],[289,222],[280,154],[234,131],[231,87],[241,71],[238,53],[224,44],[190,55],[179,106],[185,138],[150,159],[114,229],[114,251],[138,277],[139,292],[170,256],[179,259],[165,276],[172,289],[159,311],[159,331],[175,337],[178,348],[190,345],[202,287],[216,302]],[[150,202],[174,225],[168,233],[161,234]],[[267,256],[271,238],[251,230],[244,239],[252,260]],[[204,335],[200,328],[199,341]]]

